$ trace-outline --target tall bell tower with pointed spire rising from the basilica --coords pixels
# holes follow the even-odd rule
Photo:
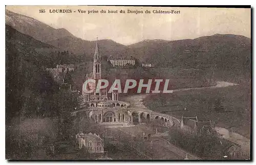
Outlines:
[[[95,53],[93,56],[93,79],[96,81],[101,79],[101,56],[99,52],[98,37],[96,40]]]

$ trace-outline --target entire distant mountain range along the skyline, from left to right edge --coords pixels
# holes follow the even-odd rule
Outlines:
[[[65,29],[54,29],[34,18],[8,10],[6,23],[19,32],[47,43],[45,46],[50,44],[60,51],[74,53],[76,57],[79,56],[74,63],[92,61],[95,41],[77,38]],[[32,42],[33,39],[31,45]],[[251,39],[240,35],[215,34],[174,41],[143,40],[128,46],[105,39],[99,40],[99,45],[103,58],[133,56],[140,62],[152,63],[156,67],[196,68],[208,74],[215,72],[217,77],[250,76],[251,71]]]

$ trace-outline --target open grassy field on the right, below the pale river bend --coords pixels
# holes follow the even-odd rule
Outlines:
[[[221,100],[222,106],[230,112],[216,112],[214,110],[216,100]],[[216,123],[216,126],[227,128],[250,138],[250,81],[224,88],[150,95],[144,100],[144,104],[154,111],[174,115],[179,119],[182,115],[197,115],[200,121],[211,120]]]

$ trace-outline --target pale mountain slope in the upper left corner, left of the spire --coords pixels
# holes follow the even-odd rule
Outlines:
[[[13,13],[9,10],[6,10],[5,19],[7,25],[42,42],[55,40],[65,36],[74,37],[74,35],[66,29],[55,29],[34,18]]]

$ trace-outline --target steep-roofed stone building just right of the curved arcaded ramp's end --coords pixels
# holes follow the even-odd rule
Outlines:
[[[199,136],[203,134],[210,134],[214,132],[214,127],[211,125],[211,121],[199,122],[197,116],[195,117],[181,117],[180,128],[191,134],[197,134]]]

